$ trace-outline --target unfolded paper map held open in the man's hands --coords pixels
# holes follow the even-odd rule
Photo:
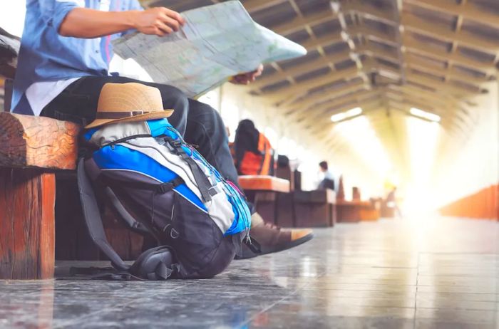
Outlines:
[[[240,1],[181,13],[182,31],[168,36],[132,33],[113,42],[115,53],[133,58],[156,83],[194,97],[260,63],[304,56],[293,41],[255,23]]]

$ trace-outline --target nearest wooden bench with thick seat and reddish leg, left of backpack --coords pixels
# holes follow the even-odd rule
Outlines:
[[[76,168],[80,129],[0,113],[0,279],[53,277],[55,172]]]

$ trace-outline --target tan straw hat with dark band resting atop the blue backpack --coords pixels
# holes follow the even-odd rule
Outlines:
[[[86,128],[115,122],[163,119],[173,110],[163,109],[158,88],[140,83],[106,83],[101,90],[96,120]]]

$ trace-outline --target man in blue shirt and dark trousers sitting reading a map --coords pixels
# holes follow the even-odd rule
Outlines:
[[[184,23],[175,11],[164,7],[144,11],[137,0],[28,1],[12,112],[86,124],[96,118],[99,94],[106,83],[151,85],[160,90],[163,108],[175,110],[168,120],[185,141],[199,145],[200,154],[237,184],[225,125],[216,110],[187,98],[173,86],[108,73],[114,38],[134,29],[165,36],[179,31]],[[247,84],[261,73],[262,66],[232,80]],[[279,229],[254,213],[251,234],[272,252],[291,248],[295,236],[312,235],[312,231]]]

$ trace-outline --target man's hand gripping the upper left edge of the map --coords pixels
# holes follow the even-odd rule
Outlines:
[[[177,11],[165,7],[135,12],[134,26],[140,33],[144,34],[166,36],[179,31],[184,24],[185,20]]]

